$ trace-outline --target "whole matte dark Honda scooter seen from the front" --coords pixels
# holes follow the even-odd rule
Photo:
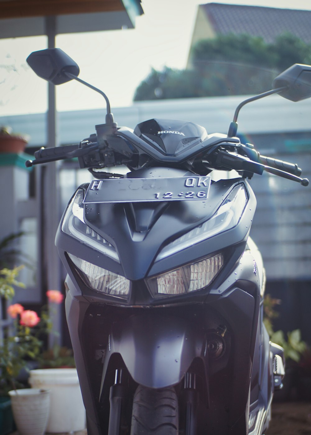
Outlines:
[[[251,101],[311,96],[311,66],[244,100],[228,134],[183,120],[118,127],[108,97],[60,49],[27,62],[53,84],[78,80],[105,98],[105,124],[79,144],[42,148],[27,166],[77,157],[95,178],[65,210],[55,243],[68,272],[66,317],[88,435],[260,435],[284,351],[263,324],[264,265],[249,237],[253,174],[308,185],[296,164],[237,137]],[[125,165],[125,175],[105,168]],[[217,179],[217,173],[233,174]],[[230,172],[233,171],[233,172]]]

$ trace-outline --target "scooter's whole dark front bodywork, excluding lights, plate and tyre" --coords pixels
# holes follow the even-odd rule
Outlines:
[[[158,167],[131,172],[126,177],[189,175],[184,170]],[[240,183],[247,189],[248,203],[235,227],[155,261],[166,244],[211,218]],[[248,184],[240,178],[212,182],[206,201],[100,203],[84,207],[85,222],[115,247],[120,259],[114,261],[79,243],[64,234],[60,225],[56,244],[68,271],[66,315],[88,434],[108,433],[110,388],[115,370],[123,368],[127,376],[125,417],[137,385],[174,385],[179,394],[186,372],[194,372],[202,430],[215,435],[247,435],[250,397],[256,411],[256,407],[267,407],[270,394],[262,398],[260,390],[268,391],[267,380],[262,380],[263,385],[257,381],[264,361],[255,365],[255,381],[249,392],[252,362],[261,358],[258,337],[262,283],[254,272],[253,256],[249,251],[243,254],[256,208]],[[171,298],[163,295],[155,299],[150,294],[145,278],[220,251],[224,266],[208,288]],[[131,280],[129,298],[115,298],[89,288],[67,252]],[[216,357],[215,337],[223,346]]]

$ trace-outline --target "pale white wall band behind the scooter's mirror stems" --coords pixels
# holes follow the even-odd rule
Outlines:
[[[134,103],[131,107],[112,107],[119,127],[134,128],[152,118],[189,120],[206,128],[207,133],[226,134],[237,105],[246,97],[186,98]],[[103,101],[103,107],[104,101]],[[46,145],[46,114],[0,117],[0,125],[10,125],[14,131],[30,135],[30,145]],[[95,125],[105,122],[102,110],[59,112],[59,143],[78,143],[91,133]],[[310,131],[311,102],[297,103],[273,95],[247,104],[240,110],[238,133],[275,133]]]

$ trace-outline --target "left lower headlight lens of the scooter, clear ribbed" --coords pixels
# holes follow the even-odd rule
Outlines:
[[[82,272],[87,284],[93,290],[113,296],[126,297],[129,294],[130,281],[122,275],[96,266],[68,253],[74,265]]]

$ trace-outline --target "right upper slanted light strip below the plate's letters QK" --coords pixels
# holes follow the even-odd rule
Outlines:
[[[235,227],[240,221],[247,201],[248,197],[244,184],[233,187],[216,213],[208,221],[166,245],[155,261],[162,260],[215,234]]]

